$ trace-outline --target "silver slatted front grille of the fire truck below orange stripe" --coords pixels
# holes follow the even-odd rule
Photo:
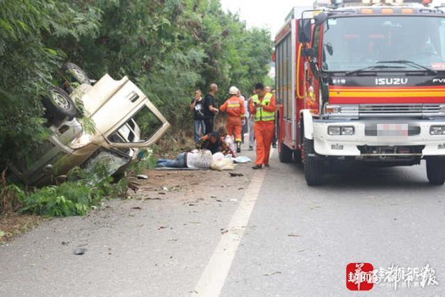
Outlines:
[[[360,104],[359,116],[434,116],[440,115],[439,104]]]

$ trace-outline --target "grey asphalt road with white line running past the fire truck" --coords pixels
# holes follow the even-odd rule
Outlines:
[[[0,296],[445,296],[444,187],[428,184],[423,163],[334,168],[314,188],[276,151],[267,170],[236,171],[244,177],[223,190],[225,172],[202,180],[197,203],[184,204],[191,192],[138,211],[116,200],[44,223],[0,247]],[[348,291],[350,262],[428,263],[439,284]]]

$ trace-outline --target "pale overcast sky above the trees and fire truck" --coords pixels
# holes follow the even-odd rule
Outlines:
[[[314,0],[221,0],[225,10],[239,13],[248,27],[256,26],[268,28],[275,34],[284,25],[284,19],[291,12],[293,6],[312,6]],[[435,5],[445,3],[445,0],[434,0]]]

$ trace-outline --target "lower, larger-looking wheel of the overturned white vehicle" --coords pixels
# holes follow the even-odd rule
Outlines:
[[[42,104],[47,109],[47,114],[56,120],[72,120],[76,116],[76,105],[61,88],[51,86],[47,97],[43,97]]]

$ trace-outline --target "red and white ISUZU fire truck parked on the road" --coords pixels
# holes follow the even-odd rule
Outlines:
[[[444,184],[444,11],[431,0],[331,1],[294,8],[275,39],[280,161],[302,162],[314,186],[334,160],[424,159],[430,184]]]

